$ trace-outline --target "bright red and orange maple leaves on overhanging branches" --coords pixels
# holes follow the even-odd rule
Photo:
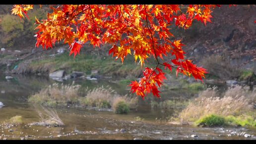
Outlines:
[[[204,78],[205,69],[187,60],[184,44],[175,39],[170,26],[188,29],[194,20],[204,25],[211,22],[212,10],[220,5],[53,5],[47,19],[36,19],[36,47],[53,48],[56,42],[69,45],[70,55],[79,54],[83,44],[94,47],[111,44],[109,54],[124,62],[127,55],[144,62],[154,57],[155,68],[144,68],[143,77],[132,81],[131,91],[144,98],[148,93],[160,97],[159,87],[163,85],[165,73],[160,67],[176,69],[195,79]],[[33,5],[14,5],[12,14],[24,18]],[[164,57],[164,56],[173,56]],[[164,63],[160,63],[164,61]],[[166,60],[165,60],[166,59]]]

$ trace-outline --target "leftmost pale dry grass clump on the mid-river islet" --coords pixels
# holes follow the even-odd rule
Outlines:
[[[74,104],[78,102],[80,87],[81,85],[75,85],[74,82],[68,85],[54,83],[32,95],[28,101],[51,107]]]

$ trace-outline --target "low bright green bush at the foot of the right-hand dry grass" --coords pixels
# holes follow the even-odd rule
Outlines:
[[[217,115],[210,115],[199,119],[195,124],[197,126],[207,127],[223,126],[225,125],[225,119]]]

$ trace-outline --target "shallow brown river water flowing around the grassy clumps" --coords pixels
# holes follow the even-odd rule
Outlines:
[[[0,125],[0,140],[256,140],[254,128],[172,125],[168,123],[168,117],[175,111],[181,111],[180,107],[170,111],[151,108],[151,100],[160,102],[175,99],[187,102],[198,95],[198,91],[187,90],[164,90],[161,99],[152,96],[145,100],[139,99],[138,108],[126,115],[80,107],[57,108],[59,117],[65,124],[63,127],[29,126],[29,123],[38,122],[40,117],[35,107],[26,102],[28,96],[55,82],[43,76],[15,75],[9,81],[4,79],[3,75],[0,76],[0,101],[5,105],[0,108],[0,123],[16,115],[22,116],[24,123],[11,128]],[[70,80],[65,83],[71,82]],[[109,80],[76,80],[75,84],[81,84],[82,88],[109,85],[119,94],[129,93],[128,84]],[[144,121],[137,122],[135,117],[140,117]],[[236,135],[242,132],[254,136],[245,138]],[[192,135],[198,137],[192,138]]]

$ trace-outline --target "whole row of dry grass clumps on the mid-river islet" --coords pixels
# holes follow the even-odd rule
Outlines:
[[[82,97],[78,94],[80,87],[80,85],[75,85],[74,82],[71,85],[54,83],[32,95],[28,101],[49,107],[81,105],[89,109],[112,108],[116,113],[128,113],[138,103],[137,98],[130,98],[128,95],[121,96],[110,86],[101,86],[90,90],[86,88],[86,95]],[[122,112],[120,109],[125,110]]]

